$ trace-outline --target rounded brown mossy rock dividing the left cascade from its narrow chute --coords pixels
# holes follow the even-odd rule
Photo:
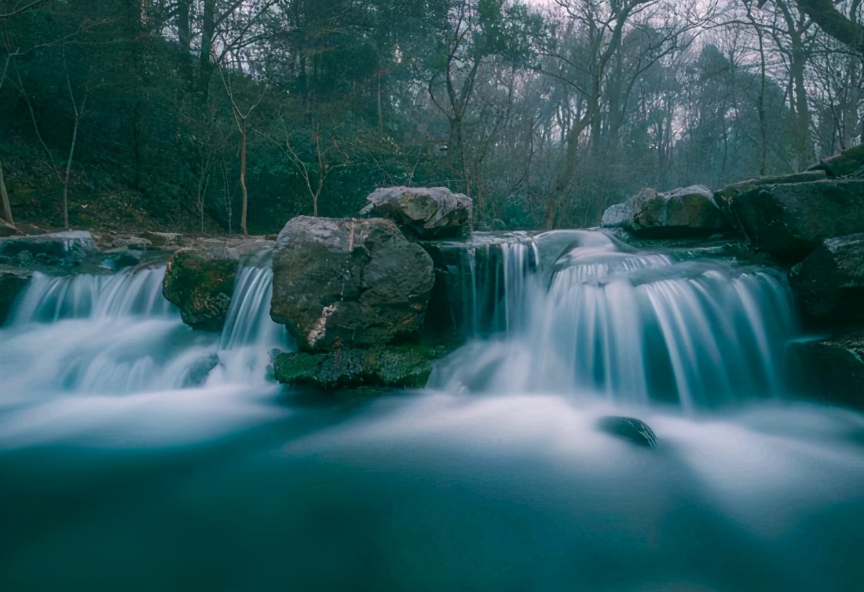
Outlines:
[[[168,259],[162,294],[180,309],[187,325],[219,330],[237,280],[239,255],[224,243],[176,251]]]

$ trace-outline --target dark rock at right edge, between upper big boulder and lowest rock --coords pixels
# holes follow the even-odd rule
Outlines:
[[[814,319],[864,321],[864,233],[825,239],[789,275]]]

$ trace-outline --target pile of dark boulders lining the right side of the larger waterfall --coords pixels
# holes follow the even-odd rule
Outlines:
[[[790,347],[794,385],[864,406],[864,144],[803,173],[658,193],[609,207],[603,226],[636,239],[746,239],[788,270],[807,328],[823,339]]]

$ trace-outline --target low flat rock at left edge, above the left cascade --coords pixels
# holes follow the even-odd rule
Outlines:
[[[0,258],[10,264],[73,266],[98,255],[90,232],[70,230],[0,239]]]

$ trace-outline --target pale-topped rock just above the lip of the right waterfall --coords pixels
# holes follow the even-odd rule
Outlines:
[[[729,229],[714,195],[702,185],[663,194],[643,189],[628,201],[608,207],[602,224],[645,238],[708,235]]]

